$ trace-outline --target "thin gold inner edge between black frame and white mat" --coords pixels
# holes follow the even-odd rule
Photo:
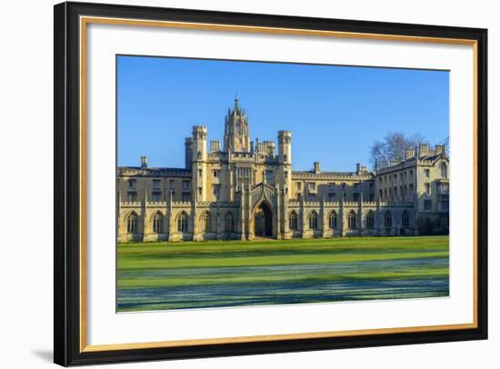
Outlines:
[[[427,37],[427,36],[412,36],[412,35],[384,35],[384,34],[363,34],[355,32],[340,32],[340,31],[323,31],[312,29],[296,29],[296,28],[278,28],[264,26],[249,26],[249,25],[221,25],[207,23],[189,23],[189,22],[171,22],[171,21],[152,21],[127,18],[110,18],[99,16],[80,16],[79,19],[79,40],[80,40],[80,352],[102,352],[115,350],[130,350],[130,349],[145,349],[145,348],[161,348],[161,347],[182,347],[201,344],[241,344],[269,341],[284,341],[284,340],[301,340],[311,338],[334,338],[346,337],[362,334],[401,334],[401,333],[417,333],[430,331],[447,331],[459,329],[474,329],[477,328],[477,41],[460,38],[445,38],[445,37]],[[86,25],[101,24],[101,25],[135,25],[148,27],[166,27],[177,29],[198,29],[212,30],[222,32],[242,32],[242,33],[257,33],[257,34],[272,34],[272,35],[308,35],[308,36],[324,36],[338,38],[358,38],[371,40],[385,41],[400,41],[400,42],[421,42],[421,43],[436,43],[436,44],[452,44],[452,45],[473,45],[473,150],[474,150],[474,214],[473,214],[473,323],[466,324],[437,324],[437,325],[422,325],[412,327],[395,327],[395,328],[377,328],[377,329],[361,329],[348,331],[330,331],[316,333],[299,333],[299,334],[268,334],[268,335],[252,335],[242,337],[220,337],[220,338],[200,338],[190,340],[173,340],[131,344],[86,344],[86,310],[85,310],[85,273],[86,273],[86,254],[85,254],[85,174],[86,174]]]

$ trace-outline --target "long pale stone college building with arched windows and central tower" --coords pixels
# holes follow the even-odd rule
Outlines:
[[[225,116],[221,146],[206,127],[185,139],[185,168],[117,168],[118,242],[447,234],[445,146],[406,149],[369,172],[292,171],[292,133],[250,141],[245,110]]]

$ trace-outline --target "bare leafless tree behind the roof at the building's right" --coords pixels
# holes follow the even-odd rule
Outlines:
[[[405,150],[415,146],[429,145],[427,139],[420,134],[405,135],[402,132],[389,132],[382,140],[375,140],[370,150],[372,165],[389,165],[391,160],[405,159]]]

